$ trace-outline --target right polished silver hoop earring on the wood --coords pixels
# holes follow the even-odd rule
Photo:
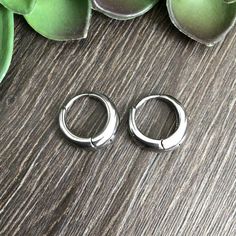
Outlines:
[[[175,111],[176,115],[176,130],[175,132],[166,139],[152,139],[140,132],[136,124],[136,111],[141,106],[145,105],[147,101],[151,99],[157,99],[170,105]],[[145,147],[151,148],[157,152],[167,152],[174,150],[180,146],[184,141],[187,131],[187,115],[178,100],[169,95],[151,95],[145,97],[138,104],[130,109],[129,113],[129,131],[132,137],[135,138],[140,144]]]

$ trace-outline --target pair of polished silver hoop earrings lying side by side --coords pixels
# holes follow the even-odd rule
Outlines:
[[[84,97],[95,99],[101,102],[106,108],[107,122],[103,130],[95,137],[90,137],[90,138],[78,137],[69,130],[66,124],[66,118],[69,110],[71,109],[75,101]],[[167,103],[173,108],[175,112],[176,129],[175,132],[166,139],[158,140],[149,138],[144,134],[142,134],[137,127],[136,111],[151,99],[157,99]],[[65,136],[69,140],[78,144],[79,146],[93,150],[102,149],[104,147],[107,147],[113,142],[118,130],[119,123],[120,119],[115,105],[110,101],[108,97],[100,93],[84,93],[74,97],[64,107],[61,108],[59,114],[60,128],[62,132],[65,134]],[[151,95],[145,97],[142,100],[140,100],[135,106],[133,106],[129,111],[129,131],[131,136],[136,141],[138,141],[142,146],[151,148],[154,151],[167,152],[178,148],[180,144],[184,141],[186,130],[187,130],[186,112],[183,106],[180,104],[180,102],[169,95]]]

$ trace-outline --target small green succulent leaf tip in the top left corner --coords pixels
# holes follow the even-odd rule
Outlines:
[[[0,3],[9,10],[24,15],[33,10],[36,0],[0,0]]]

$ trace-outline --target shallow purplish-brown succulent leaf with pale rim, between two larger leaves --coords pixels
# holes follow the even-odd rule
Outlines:
[[[93,8],[118,20],[128,20],[143,15],[159,0],[93,0]]]

